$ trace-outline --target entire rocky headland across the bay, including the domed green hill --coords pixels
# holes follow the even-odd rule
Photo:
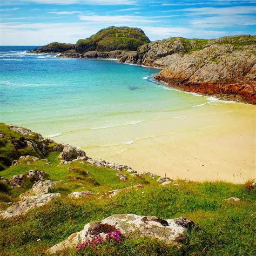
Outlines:
[[[75,45],[51,43],[31,52],[60,53],[59,58],[114,58],[163,68],[154,78],[169,86],[256,104],[256,36],[150,42],[141,29],[111,26]]]

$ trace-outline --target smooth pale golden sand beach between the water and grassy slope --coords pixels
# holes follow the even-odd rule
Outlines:
[[[130,165],[172,179],[245,183],[255,178],[256,107],[210,102],[172,117],[111,129],[136,133],[135,141],[83,147],[93,158]],[[156,132],[150,136],[147,130]]]

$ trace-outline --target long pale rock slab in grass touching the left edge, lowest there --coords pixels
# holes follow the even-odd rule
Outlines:
[[[17,201],[12,206],[8,207],[1,213],[2,218],[11,218],[28,212],[35,207],[41,207],[47,204],[50,200],[60,197],[58,193],[40,194],[39,196],[23,197],[22,200]]]

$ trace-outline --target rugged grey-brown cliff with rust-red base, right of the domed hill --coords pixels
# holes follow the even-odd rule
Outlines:
[[[140,46],[120,62],[164,68],[154,78],[181,90],[256,104],[256,37],[169,38]]]

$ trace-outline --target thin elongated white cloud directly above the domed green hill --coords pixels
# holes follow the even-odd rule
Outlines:
[[[152,19],[146,19],[143,16],[130,16],[130,15],[78,15],[81,21],[95,22],[95,23],[112,23],[112,24],[129,24],[127,23],[155,23]]]

